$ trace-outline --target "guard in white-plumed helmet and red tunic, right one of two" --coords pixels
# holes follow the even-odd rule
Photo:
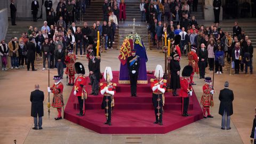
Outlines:
[[[163,68],[157,65],[155,69],[155,79],[151,78],[151,89],[153,91],[153,106],[155,108],[156,121],[154,124],[163,125],[163,106],[164,106],[164,92],[166,91],[166,79],[163,79]]]

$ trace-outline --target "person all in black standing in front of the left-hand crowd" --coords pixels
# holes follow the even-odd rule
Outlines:
[[[28,54],[27,54],[27,70],[29,70],[30,68],[30,63],[31,63],[31,67],[32,67],[32,71],[36,71],[35,67],[34,67],[34,61],[35,61],[35,52],[36,52],[36,46],[35,44],[32,42],[33,41],[33,37],[29,37],[28,38],[29,42],[27,43],[27,50],[28,50]]]

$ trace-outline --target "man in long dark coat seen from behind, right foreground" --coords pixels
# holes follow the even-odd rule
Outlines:
[[[226,123],[227,123],[227,130],[230,130],[230,116],[233,115],[233,100],[234,100],[234,94],[233,91],[228,89],[229,83],[226,81],[225,89],[220,90],[219,100],[220,100],[220,108],[219,108],[219,114],[222,115],[222,121],[221,121],[221,129],[225,130]],[[226,119],[227,115],[227,119]]]

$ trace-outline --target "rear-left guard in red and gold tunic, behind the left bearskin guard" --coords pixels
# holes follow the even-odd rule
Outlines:
[[[66,56],[65,59],[65,64],[67,65],[65,74],[68,76],[69,78],[69,83],[67,85],[74,85],[74,81],[75,81],[75,68],[74,68],[74,64],[76,62],[76,55],[73,53],[73,49],[68,49],[68,55]],[[72,82],[71,82],[72,79]]]

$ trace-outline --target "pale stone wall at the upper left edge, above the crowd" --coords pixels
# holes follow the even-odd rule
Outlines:
[[[2,39],[5,39],[5,35],[8,29],[7,9],[0,10],[0,21],[0,41],[2,41]]]

